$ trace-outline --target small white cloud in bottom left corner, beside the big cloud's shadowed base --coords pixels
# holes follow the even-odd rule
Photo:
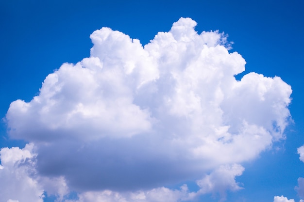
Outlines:
[[[34,144],[0,150],[0,199],[7,202],[43,202],[44,191],[59,201],[68,194],[64,177],[44,177],[36,171]]]

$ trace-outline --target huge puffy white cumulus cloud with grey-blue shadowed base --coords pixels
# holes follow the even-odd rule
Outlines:
[[[236,80],[245,60],[227,36],[195,26],[181,18],[144,47],[94,31],[89,58],[48,75],[32,101],[11,103],[10,137],[33,142],[39,175],[62,177],[84,201],[202,176],[202,193],[239,189],[239,164],[284,138],[291,87],[256,73]]]

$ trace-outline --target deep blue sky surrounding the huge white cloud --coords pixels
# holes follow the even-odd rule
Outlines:
[[[109,27],[145,45],[157,32],[169,31],[180,17],[190,17],[199,33],[219,30],[229,35],[228,41],[234,42],[230,52],[238,52],[247,62],[241,75],[279,76],[292,88],[289,109],[294,124],[285,131],[287,139],[242,163],[245,171],[236,181],[244,189],[228,192],[227,202],[273,202],[281,195],[297,202],[294,187],[304,177],[304,163],[297,154],[304,144],[303,11],[303,0],[1,0],[0,117],[5,117],[11,102],[29,102],[38,95],[43,80],[62,63],[89,57],[93,31]],[[0,135],[0,148],[26,143],[10,139],[4,124]],[[209,200],[219,199],[210,199],[210,194],[201,198]]]

